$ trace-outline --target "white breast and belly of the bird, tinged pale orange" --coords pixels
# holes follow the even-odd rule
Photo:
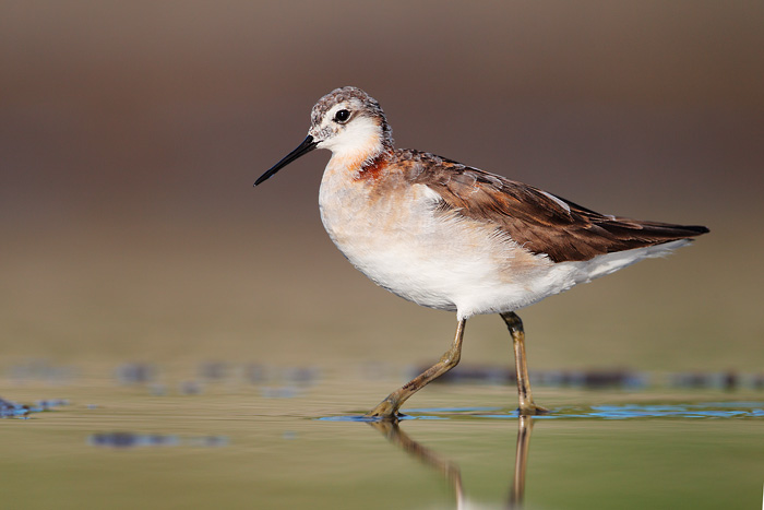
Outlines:
[[[345,257],[378,285],[459,318],[516,310],[575,284],[572,269],[521,249],[490,226],[433,211],[422,185],[377,192],[327,168],[324,227]]]

